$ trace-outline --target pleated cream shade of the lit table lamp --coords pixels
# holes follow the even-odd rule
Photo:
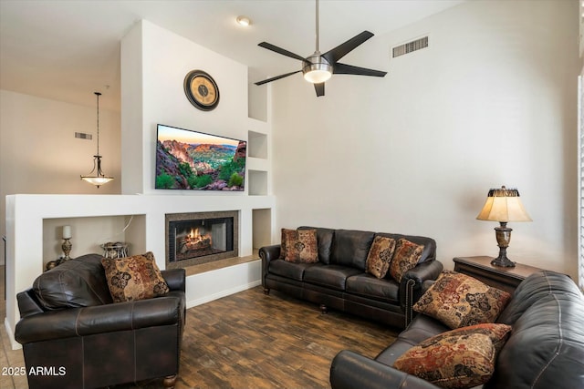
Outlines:
[[[531,221],[527,211],[523,208],[519,191],[507,189],[490,189],[483,210],[476,217],[478,220],[489,221]]]

